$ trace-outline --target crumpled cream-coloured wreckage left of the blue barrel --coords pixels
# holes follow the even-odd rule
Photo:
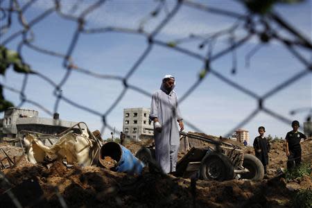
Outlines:
[[[30,131],[22,131],[20,134],[24,135],[26,158],[33,164],[55,160],[82,166],[98,163],[102,141],[95,137],[83,122],[55,136]]]

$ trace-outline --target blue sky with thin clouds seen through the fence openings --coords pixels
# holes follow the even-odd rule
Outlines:
[[[28,1],[19,2],[23,6]],[[76,10],[73,9],[75,2],[61,1],[61,11],[71,15],[79,15],[95,1],[78,1],[80,3]],[[158,1],[106,1],[85,16],[85,28],[113,26],[137,30],[141,26],[147,33],[152,33],[166,17],[167,12],[173,10],[175,6],[175,1],[166,2],[166,6],[160,10],[157,17],[149,18],[148,14],[157,8]],[[247,13],[243,4],[238,1],[191,2],[202,3],[205,6],[232,11],[241,15]],[[6,8],[8,3],[9,1],[6,0],[1,1],[1,7]],[[29,23],[53,6],[53,1],[35,1],[24,11],[24,19]],[[290,5],[277,4],[274,10],[311,41],[312,1]],[[254,18],[257,19],[257,17]],[[76,22],[60,17],[57,12],[52,12],[51,15],[39,20],[32,26],[34,34],[32,44],[40,46],[42,49],[66,54],[77,28]],[[164,28],[155,35],[155,40],[165,43],[175,42],[177,46],[204,57],[207,54],[209,44],[206,44],[202,49],[198,46],[205,40],[207,34],[228,29],[236,22],[238,21],[232,17],[216,15],[183,5]],[[234,33],[235,40],[240,40],[247,35],[245,28],[243,28],[243,21],[239,23],[239,29]],[[0,24],[3,26],[4,21],[0,21]],[[273,27],[284,37],[293,37],[276,24]],[[1,33],[0,44],[3,44],[10,35],[21,30],[21,28],[17,15],[12,15],[12,25],[8,31]],[[263,28],[259,28],[259,30],[261,29],[263,30]],[[186,39],[191,34],[198,38]],[[21,40],[22,37],[19,35],[8,42],[6,47],[17,51]],[[295,82],[286,84],[286,87],[269,96],[263,102],[263,106],[275,114],[283,116],[287,121],[281,121],[281,119],[272,116],[271,113],[260,111],[252,116],[252,119],[247,123],[239,125],[254,110],[257,110],[257,99],[232,87],[213,73],[207,73],[202,82],[196,85],[198,75],[204,67],[202,60],[159,44],[153,44],[139,67],[128,77],[127,83],[144,89],[148,94],[153,94],[155,90],[159,89],[164,75],[172,74],[175,76],[175,92],[177,92],[178,98],[184,98],[188,90],[193,89],[191,94],[188,94],[180,103],[180,110],[185,123],[191,124],[185,126],[185,131],[201,131],[207,135],[228,136],[235,128],[243,128],[250,132],[250,142],[252,142],[254,137],[258,135],[258,127],[263,125],[266,127],[266,135],[284,138],[286,132],[291,130],[289,121],[296,119],[300,121],[301,127],[303,127],[303,122],[311,113],[308,110],[303,110],[291,114],[291,111],[301,108],[311,109],[312,76],[311,73],[306,73],[302,77],[297,77],[298,73],[306,70],[304,64],[276,40],[262,44],[259,51],[250,58],[249,66],[247,66],[246,55],[257,45],[259,45],[259,38],[252,37],[235,51],[236,73],[234,74],[232,73],[233,53],[227,53],[212,61],[210,67],[232,83],[240,85],[257,96],[267,94],[286,80],[295,79]],[[229,35],[219,37],[214,43],[212,55],[228,46]],[[76,66],[83,69],[124,78],[147,48],[148,42],[144,35],[114,32],[83,33],[78,37],[71,58]],[[311,62],[311,51],[299,47],[296,47],[296,50]],[[67,72],[63,67],[64,60],[62,58],[40,53],[26,45],[22,47],[21,55],[31,65],[32,69],[49,77],[54,83],[61,83]],[[18,90],[21,90],[23,80],[24,75],[16,73],[12,69],[9,69],[5,76],[0,76],[2,85]],[[31,75],[27,78],[25,94],[28,100],[39,103],[53,113],[56,101],[53,94],[54,89],[55,87],[49,85],[46,80]],[[116,132],[122,130],[124,108],[150,107],[150,96],[130,88],[115,104],[116,98],[122,91],[123,83],[121,80],[95,78],[77,71],[72,71],[62,85],[62,95],[79,106],[92,109],[100,115],[112,108],[105,121],[112,128],[115,128]],[[4,89],[3,94],[8,101],[19,105],[21,101],[19,94],[8,89]],[[50,114],[32,103],[23,103],[19,107],[38,110],[40,116],[51,117]],[[60,114],[60,119],[84,121],[90,130],[103,130],[103,137],[110,137],[112,130],[103,129],[102,117],[98,114],[80,109],[65,101],[60,101],[57,111]],[[196,128],[193,128],[194,126]]]

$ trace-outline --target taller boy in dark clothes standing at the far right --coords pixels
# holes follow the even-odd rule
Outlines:
[[[302,132],[298,132],[299,121],[293,121],[291,123],[293,130],[288,132],[286,139],[286,155],[288,157],[287,168],[292,168],[292,164],[295,160],[295,166],[299,166],[301,163],[301,139],[306,139],[306,135],[302,134]]]

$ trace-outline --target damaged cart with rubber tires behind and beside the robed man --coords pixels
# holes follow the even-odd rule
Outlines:
[[[190,177],[198,174],[203,180],[249,179],[262,180],[264,168],[254,155],[244,154],[240,146],[216,141],[192,133],[180,132],[181,139],[189,137],[213,144],[214,147],[191,148],[187,155],[177,162],[175,176]],[[153,146],[141,148],[136,157],[143,162],[155,159]]]

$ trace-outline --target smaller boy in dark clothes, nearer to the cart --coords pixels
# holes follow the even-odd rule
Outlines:
[[[260,126],[258,128],[258,132],[259,136],[254,138],[254,152],[256,153],[256,157],[262,162],[264,174],[266,174],[266,165],[268,164],[268,152],[270,151],[270,143],[268,142],[266,137],[264,137],[264,132],[266,132],[266,128]]]

